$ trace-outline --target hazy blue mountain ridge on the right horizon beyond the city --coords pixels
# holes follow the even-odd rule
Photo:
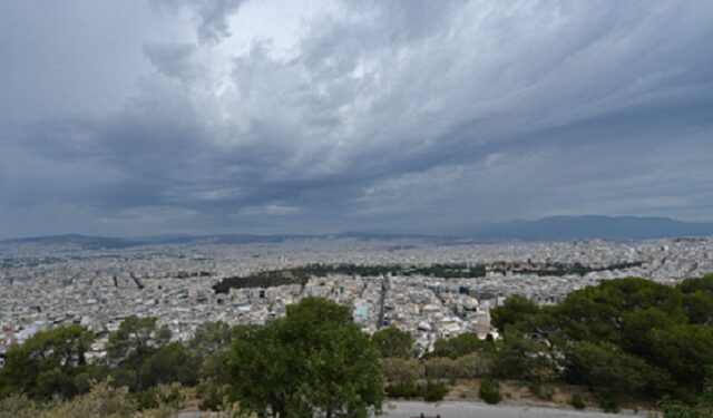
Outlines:
[[[644,240],[713,235],[713,224],[667,217],[553,216],[484,225],[468,235],[481,240]]]

